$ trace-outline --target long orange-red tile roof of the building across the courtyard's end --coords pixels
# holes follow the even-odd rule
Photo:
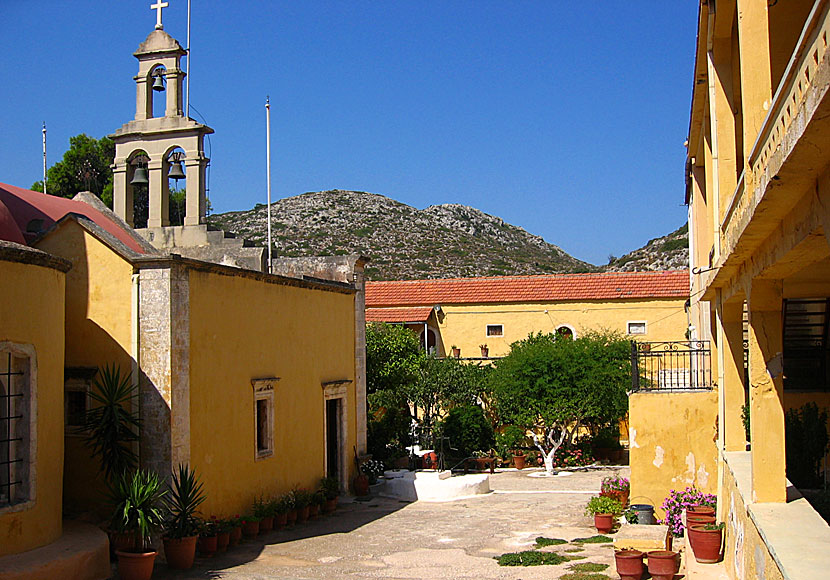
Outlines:
[[[686,270],[367,282],[366,306],[498,304],[689,296]]]

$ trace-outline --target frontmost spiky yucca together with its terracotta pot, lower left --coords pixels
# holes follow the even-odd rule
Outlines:
[[[152,576],[157,552],[150,541],[152,534],[164,525],[162,501],[166,493],[161,478],[153,471],[122,474],[110,484],[110,498],[115,504],[114,528],[136,538],[133,550],[116,551],[122,580],[148,580]]]

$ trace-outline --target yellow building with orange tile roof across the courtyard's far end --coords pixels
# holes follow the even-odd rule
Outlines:
[[[680,271],[367,282],[366,320],[405,324],[439,356],[455,347],[462,358],[502,357],[536,332],[674,341],[686,332],[688,284]]]

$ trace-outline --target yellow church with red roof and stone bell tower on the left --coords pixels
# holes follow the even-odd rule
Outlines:
[[[136,117],[113,136],[115,211],[88,193],[0,184],[2,578],[110,575],[106,535],[62,521],[108,515],[76,429],[107,365],[138,388],[141,467],[165,477],[188,464],[206,516],[244,514],[323,476],[345,490],[365,453],[366,260],[266,264],[262,248],[208,230],[211,130],[182,114],[182,54],[160,28],[135,53]],[[159,74],[167,107],[153,117]],[[171,226],[167,175],[179,162],[187,214]]]

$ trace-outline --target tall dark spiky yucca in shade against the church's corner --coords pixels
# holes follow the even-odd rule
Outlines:
[[[141,427],[131,410],[137,388],[130,382],[129,374],[121,377],[116,365],[100,370],[93,386],[89,393],[93,404],[84,419],[84,442],[92,448],[93,457],[100,457],[107,481],[113,482],[138,463],[131,447],[138,441]]]

